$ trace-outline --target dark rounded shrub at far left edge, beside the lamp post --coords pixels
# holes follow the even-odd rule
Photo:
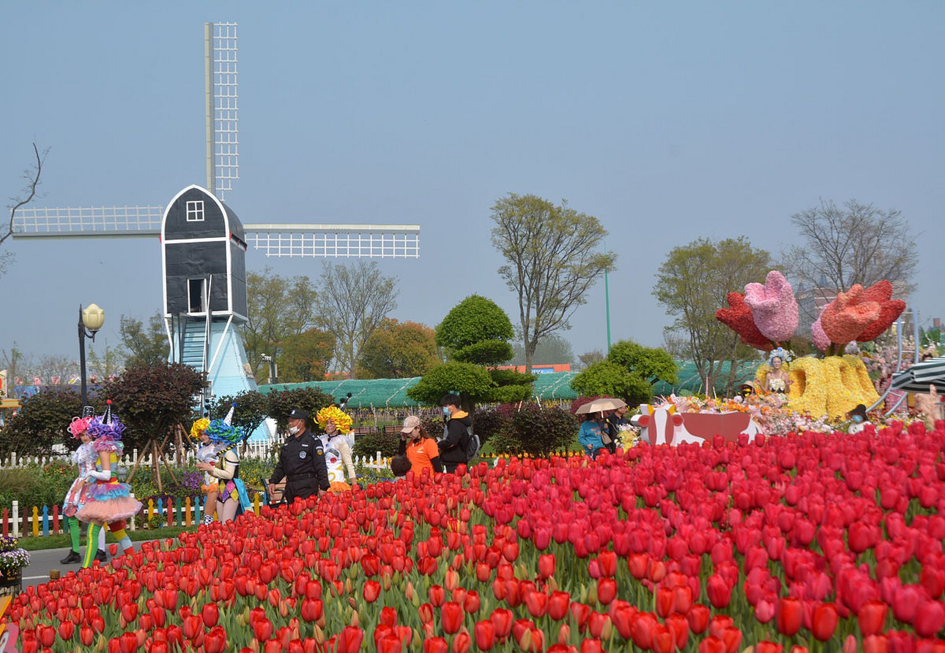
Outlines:
[[[66,431],[82,414],[82,400],[71,387],[51,387],[27,398],[9,419],[0,438],[0,454],[50,455],[55,444],[76,449],[78,440]]]

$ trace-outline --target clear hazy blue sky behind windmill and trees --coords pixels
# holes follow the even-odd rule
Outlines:
[[[596,215],[619,252],[613,339],[662,341],[669,249],[777,251],[820,198],[898,208],[923,318],[945,316],[945,6],[938,3],[26,3],[0,8],[0,193],[51,148],[39,206],[163,204],[203,183],[203,23],[239,24],[244,222],[420,223],[395,317],[504,306],[490,206],[534,193]],[[145,318],[156,240],[17,241],[0,347],[74,355],[79,303]],[[250,269],[318,277],[317,259]],[[759,280],[761,281],[761,280]],[[599,284],[564,335],[606,347]]]

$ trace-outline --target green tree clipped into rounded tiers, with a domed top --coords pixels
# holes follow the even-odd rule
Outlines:
[[[472,415],[482,402],[520,402],[531,396],[534,377],[507,369],[493,369],[512,356],[508,340],[512,323],[494,301],[471,295],[456,304],[437,327],[437,344],[449,362],[430,369],[407,396],[423,404],[438,404],[456,392],[463,410]]]

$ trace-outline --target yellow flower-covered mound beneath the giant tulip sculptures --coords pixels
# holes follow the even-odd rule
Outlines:
[[[839,420],[856,404],[869,406],[880,398],[869,380],[867,367],[857,356],[797,358],[790,367],[784,367],[792,382],[788,406],[799,413]],[[759,384],[765,382],[769,370],[767,363],[758,367],[755,379]]]

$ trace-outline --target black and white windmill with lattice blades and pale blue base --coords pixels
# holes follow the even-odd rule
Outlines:
[[[224,202],[239,179],[236,24],[204,26],[206,187],[166,205],[21,209],[13,237],[160,236],[170,359],[206,372],[202,404],[256,388],[239,327],[247,317],[246,252],[267,257],[418,258],[419,225],[242,224]]]

